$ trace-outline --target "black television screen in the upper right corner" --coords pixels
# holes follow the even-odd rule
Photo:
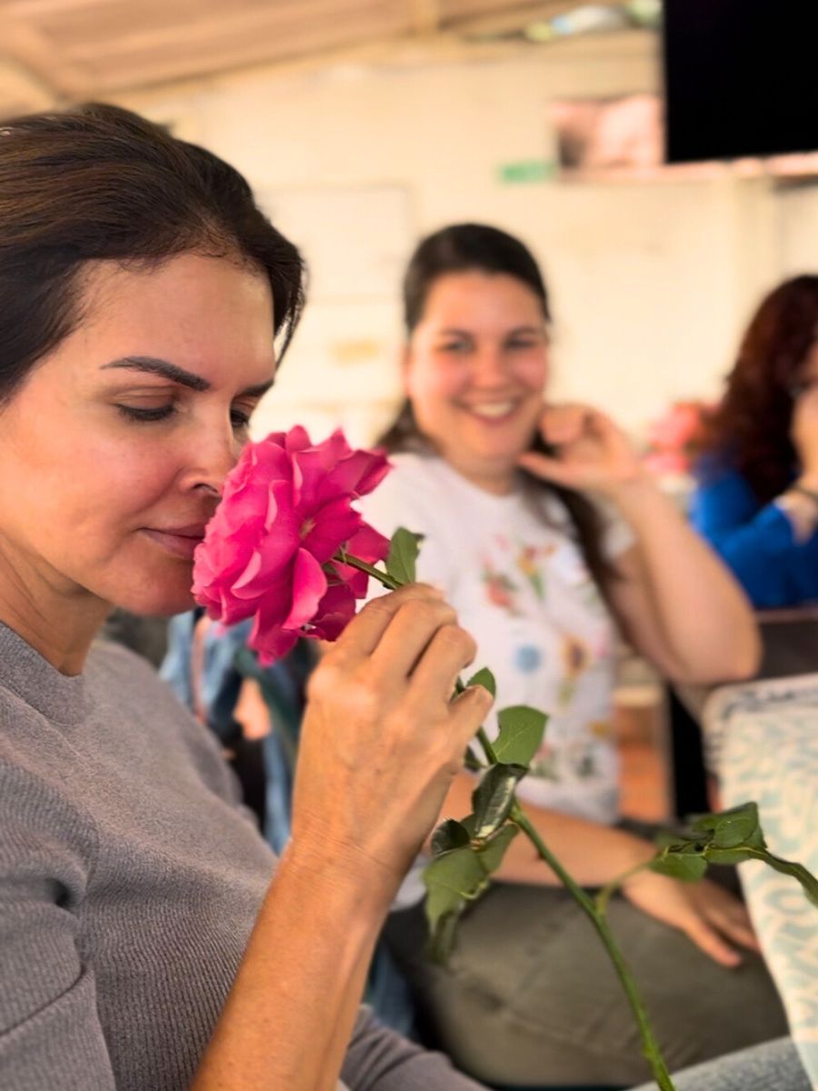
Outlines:
[[[818,0],[664,0],[667,163],[818,149]]]

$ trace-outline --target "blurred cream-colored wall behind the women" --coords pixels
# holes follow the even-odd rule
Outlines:
[[[558,396],[638,434],[671,399],[718,393],[759,292],[818,266],[817,191],[727,176],[504,182],[503,165],[553,158],[550,99],[657,89],[655,39],[616,43],[258,72],[125,100],[238,166],[314,266],[308,319],[256,431],[340,421],[372,437],[399,393],[402,262],[418,233],[467,218],[519,233],[542,261]]]

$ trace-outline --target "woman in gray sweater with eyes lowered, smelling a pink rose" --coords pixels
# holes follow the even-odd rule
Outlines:
[[[374,938],[491,705],[480,686],[449,699],[474,655],[452,607],[409,586],[344,630],[310,687],[278,861],[204,729],[146,664],[95,644],[111,606],[192,606],[193,552],[297,322],[301,275],[234,170],[128,111],[0,127],[9,1091],[477,1087],[359,1009]],[[278,574],[261,624],[310,614],[334,635],[360,587],[342,562],[327,573],[337,543],[322,535],[362,535],[377,555],[349,502],[381,466],[339,443],[325,465],[328,448],[302,439],[290,496],[326,487],[332,518],[311,525],[267,496],[281,533],[242,554],[232,586],[240,598]],[[228,535],[226,568],[245,544]]]

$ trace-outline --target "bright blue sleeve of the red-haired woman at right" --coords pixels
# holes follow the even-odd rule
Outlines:
[[[775,503],[760,507],[741,475],[703,481],[691,507],[693,525],[731,568],[757,608],[783,606],[783,574],[798,549],[790,519]]]

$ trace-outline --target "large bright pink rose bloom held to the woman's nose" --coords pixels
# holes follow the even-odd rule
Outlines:
[[[333,560],[373,564],[389,548],[352,507],[383,480],[381,452],[353,451],[338,430],[313,444],[303,428],[249,443],[228,475],[193,564],[193,595],[226,625],[254,616],[250,645],[263,663],[301,636],[336,639],[369,577]]]

